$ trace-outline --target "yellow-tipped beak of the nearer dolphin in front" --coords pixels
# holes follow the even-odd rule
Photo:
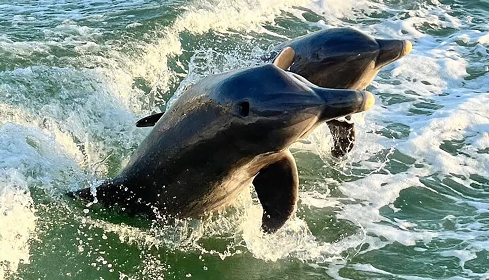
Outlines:
[[[364,90],[311,88],[324,101],[319,121],[366,111],[375,104],[374,95]]]

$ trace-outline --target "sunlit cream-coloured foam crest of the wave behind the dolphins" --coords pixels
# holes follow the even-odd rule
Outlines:
[[[170,82],[175,79],[175,73],[168,67],[168,59],[181,54],[181,32],[188,30],[194,34],[202,34],[214,30],[222,33],[269,33],[263,27],[265,22],[273,21],[277,14],[293,5],[305,3],[307,0],[195,1],[172,26],[161,32],[163,38],[158,43],[146,46],[142,63],[133,63],[131,71],[136,77],[145,77],[152,88],[166,91]]]

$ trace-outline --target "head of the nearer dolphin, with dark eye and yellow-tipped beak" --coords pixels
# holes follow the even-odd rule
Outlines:
[[[241,151],[281,151],[318,124],[374,104],[369,92],[315,86],[271,64],[228,72],[213,82],[218,86],[209,98],[222,108],[222,132]]]

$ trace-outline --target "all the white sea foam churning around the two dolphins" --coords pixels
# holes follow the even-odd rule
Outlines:
[[[120,2],[119,5],[124,3]],[[171,247],[175,241],[177,248],[202,250],[226,258],[237,254],[239,249],[236,248],[244,245],[255,258],[269,261],[292,257],[304,261],[339,263],[326,268],[330,276],[337,279],[342,279],[338,270],[345,260],[339,257],[340,254],[363,243],[368,243],[368,251],[371,251],[394,242],[414,246],[436,238],[466,240],[471,244],[469,248],[442,253],[445,257],[459,258],[461,264],[474,258],[475,253],[488,250],[488,242],[480,241],[480,238],[487,237],[487,232],[476,221],[471,225],[460,225],[454,216],[450,220],[457,227],[463,227],[464,232],[432,232],[418,229],[415,222],[390,219],[380,213],[380,208],[384,206],[399,211],[393,203],[401,191],[422,186],[419,179],[423,176],[441,173],[468,177],[478,174],[489,178],[489,153],[480,152],[489,147],[488,76],[467,80],[469,67],[478,67],[481,72],[489,71],[484,68],[488,62],[487,32],[468,30],[465,19],[454,17],[438,1],[408,5],[408,8],[403,8],[408,17],[401,20],[394,16],[399,13],[397,8],[378,1],[200,0],[188,6],[176,22],[161,28],[157,32],[160,38],[156,43],[139,45],[140,56],[136,58],[95,43],[103,31],[73,22],[72,19],[80,18],[83,14],[76,9],[71,15],[56,15],[60,23],[44,30],[45,41],[15,42],[8,36],[0,37],[0,51],[17,58],[29,57],[33,53],[49,57],[52,48],[56,47],[73,50],[80,57],[68,60],[60,68],[31,66],[5,70],[0,74],[3,82],[0,85],[0,251],[8,252],[0,255],[0,262],[7,263],[0,270],[0,279],[29,259],[28,240],[36,236],[37,222],[29,187],[38,186],[56,192],[90,184],[95,178],[95,171],[100,172],[101,177],[107,172],[103,167],[94,170],[97,163],[114,149],[121,153],[131,151],[144,137],[146,132],[135,130],[133,122],[135,115],[152,109],[154,97],[134,89],[134,78],[143,77],[153,89],[152,94],[156,90],[168,90],[179,75],[171,70],[169,59],[182,52],[179,38],[182,32],[203,34],[213,30],[244,36],[257,32],[281,37],[263,25],[273,22],[282,10],[305,21],[302,11],[290,8],[294,5],[306,6],[324,17],[319,22],[307,22],[311,26],[351,26],[376,37],[414,42],[413,52],[387,67],[373,83],[372,91],[377,94],[376,106],[354,117],[358,133],[356,148],[340,163],[340,168],[343,168],[342,172],[351,174],[354,169],[352,164],[360,163],[362,167],[372,170],[373,174],[338,186],[338,190],[347,198],[331,197],[329,191],[324,189],[321,189],[321,193],[307,191],[300,194],[303,207],[313,207],[318,211],[334,208],[336,218],[352,222],[358,229],[357,233],[334,243],[318,241],[306,221],[294,216],[276,235],[263,236],[260,231],[261,208],[249,194],[244,194],[235,206],[242,211],[239,215],[223,215],[198,225],[183,223],[184,226],[174,229],[175,238],[162,232],[148,233],[101,221],[85,222],[116,233],[121,242],[137,242],[145,246]],[[24,14],[32,13],[31,9],[35,8],[0,5],[0,10],[16,10]],[[379,12],[391,16],[374,24],[354,24],[345,20],[362,20]],[[104,16],[94,16],[89,20],[106,19]],[[19,15],[11,23],[20,26],[32,21],[27,15]],[[126,28],[132,29],[139,24],[133,22]],[[440,41],[423,32],[423,24],[458,31]],[[240,51],[219,53],[198,50],[178,93],[210,73],[259,63],[261,50],[255,49],[256,53],[252,54]],[[479,57],[479,61],[474,57]],[[72,66],[76,63],[93,69],[75,70]],[[400,84],[389,83],[392,80],[398,80]],[[38,84],[34,83],[29,88],[30,81]],[[65,88],[56,91],[59,96],[46,98],[50,91],[45,88],[50,83]],[[36,95],[38,90],[42,94]],[[409,101],[382,106],[381,93],[399,94],[409,97]],[[424,108],[429,114],[413,113],[413,105],[419,103],[424,103],[425,107],[427,104],[436,106]],[[384,129],[389,122],[408,125],[409,136],[389,139],[370,133]],[[328,129],[323,126],[311,135],[309,140],[312,144],[301,144],[296,148],[313,151],[323,159],[331,160],[331,138],[325,135],[328,135]],[[458,152],[469,156],[454,156],[440,149],[445,141],[462,139],[467,145]],[[415,159],[424,167],[409,166],[406,172],[384,174],[378,171],[388,164],[388,160],[367,161],[372,154],[393,149]],[[474,182],[472,179],[452,179],[467,188]],[[337,182],[331,183],[337,185]],[[456,197],[450,199],[454,203],[467,203],[480,213],[488,211],[486,201],[471,200],[470,197],[465,201]],[[7,215],[1,216],[4,211],[8,212]],[[5,224],[9,226],[4,227]],[[196,240],[201,237],[225,233],[231,233],[231,237],[238,240],[236,248],[212,252],[196,245]],[[238,236],[233,236],[235,234]],[[154,264],[158,265],[156,262]],[[371,265],[357,265],[355,269],[389,275]]]

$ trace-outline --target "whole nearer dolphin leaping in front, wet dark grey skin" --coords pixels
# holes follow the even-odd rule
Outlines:
[[[253,184],[264,209],[262,228],[274,232],[297,201],[289,146],[320,123],[373,102],[366,91],[314,86],[271,64],[209,76],[172,104],[96,197],[131,214],[199,217]],[[75,196],[93,200],[89,189]]]

